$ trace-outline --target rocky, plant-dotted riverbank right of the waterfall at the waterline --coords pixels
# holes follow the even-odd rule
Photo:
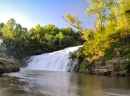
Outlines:
[[[114,56],[112,59],[101,58],[96,61],[83,63],[77,62],[74,71],[78,73],[106,75],[106,76],[130,76],[129,59],[121,56]]]

